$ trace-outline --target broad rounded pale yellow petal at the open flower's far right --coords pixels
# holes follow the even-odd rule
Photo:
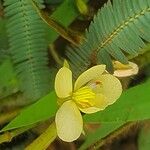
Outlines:
[[[98,80],[101,82],[99,92],[105,95],[109,105],[113,104],[122,93],[122,85],[120,81],[110,74],[101,75]]]

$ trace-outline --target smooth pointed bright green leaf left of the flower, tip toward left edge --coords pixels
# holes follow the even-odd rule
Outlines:
[[[23,109],[1,132],[44,121],[53,117],[57,110],[56,94],[51,92],[36,103]]]

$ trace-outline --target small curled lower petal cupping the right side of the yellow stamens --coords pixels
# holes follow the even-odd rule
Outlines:
[[[93,107],[88,108],[79,107],[79,109],[86,114],[91,114],[100,110],[104,110],[109,105],[109,101],[102,94],[96,94],[96,98],[93,99],[93,103],[94,103]]]

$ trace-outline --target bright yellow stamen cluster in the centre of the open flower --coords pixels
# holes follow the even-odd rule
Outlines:
[[[93,99],[96,95],[88,86],[84,86],[73,92],[72,99],[80,108],[89,108],[95,105]]]

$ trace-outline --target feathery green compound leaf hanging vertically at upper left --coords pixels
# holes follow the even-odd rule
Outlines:
[[[43,6],[43,0],[36,1]],[[28,99],[49,92],[47,44],[44,23],[30,0],[5,0],[9,51],[20,83]]]

